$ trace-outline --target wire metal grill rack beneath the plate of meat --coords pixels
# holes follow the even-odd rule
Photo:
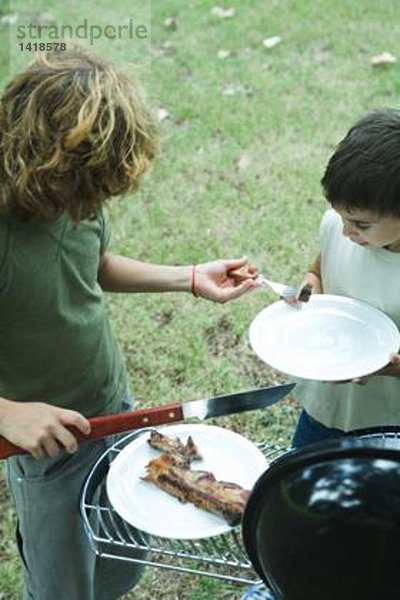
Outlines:
[[[241,528],[200,540],[171,540],[149,536],[121,519],[106,493],[109,466],[139,432],[113,444],[92,468],[81,497],[81,514],[93,550],[99,556],[141,563],[153,567],[206,575],[243,584],[259,583],[242,543]],[[275,445],[256,444],[267,460],[286,450]]]

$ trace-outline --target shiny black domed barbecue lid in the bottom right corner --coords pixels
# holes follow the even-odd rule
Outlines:
[[[385,436],[291,451],[256,483],[243,539],[278,598],[400,598],[400,451]]]

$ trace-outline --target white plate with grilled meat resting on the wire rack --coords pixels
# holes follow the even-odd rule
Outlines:
[[[250,491],[268,466],[245,437],[213,425],[146,430],[112,462],[111,505],[151,535],[200,539],[237,525]]]

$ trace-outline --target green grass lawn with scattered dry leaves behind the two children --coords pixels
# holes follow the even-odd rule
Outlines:
[[[0,1],[0,17],[65,23],[82,16],[77,1],[60,5],[15,0],[8,13]],[[102,14],[115,23],[129,18],[132,6],[119,0],[113,13],[108,3],[91,0],[84,17],[96,23]],[[326,208],[319,180],[334,146],[365,112],[399,106],[399,63],[372,66],[371,59],[391,52],[400,60],[400,6],[396,0],[221,0],[220,7],[235,9],[232,16],[215,6],[210,0],[147,5],[151,43],[143,45],[142,60],[139,45],[133,54],[160,116],[162,152],[139,193],[110,203],[112,249],[172,264],[247,255],[266,274],[296,283],[317,251]],[[9,78],[5,21],[0,85]],[[273,36],[280,42],[266,47]],[[25,56],[11,43],[15,70]],[[126,41],[93,48],[130,68]],[[274,300],[264,290],[223,306],[190,294],[110,297],[137,405],[283,381],[247,341],[251,320]],[[286,446],[297,414],[288,398],[223,424]],[[20,579],[4,486],[0,508],[0,599],[16,600]],[[238,599],[242,589],[154,569],[126,598]]]

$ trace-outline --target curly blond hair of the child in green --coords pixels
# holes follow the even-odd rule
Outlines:
[[[93,218],[137,189],[156,150],[138,82],[79,47],[39,53],[0,102],[0,211]]]

